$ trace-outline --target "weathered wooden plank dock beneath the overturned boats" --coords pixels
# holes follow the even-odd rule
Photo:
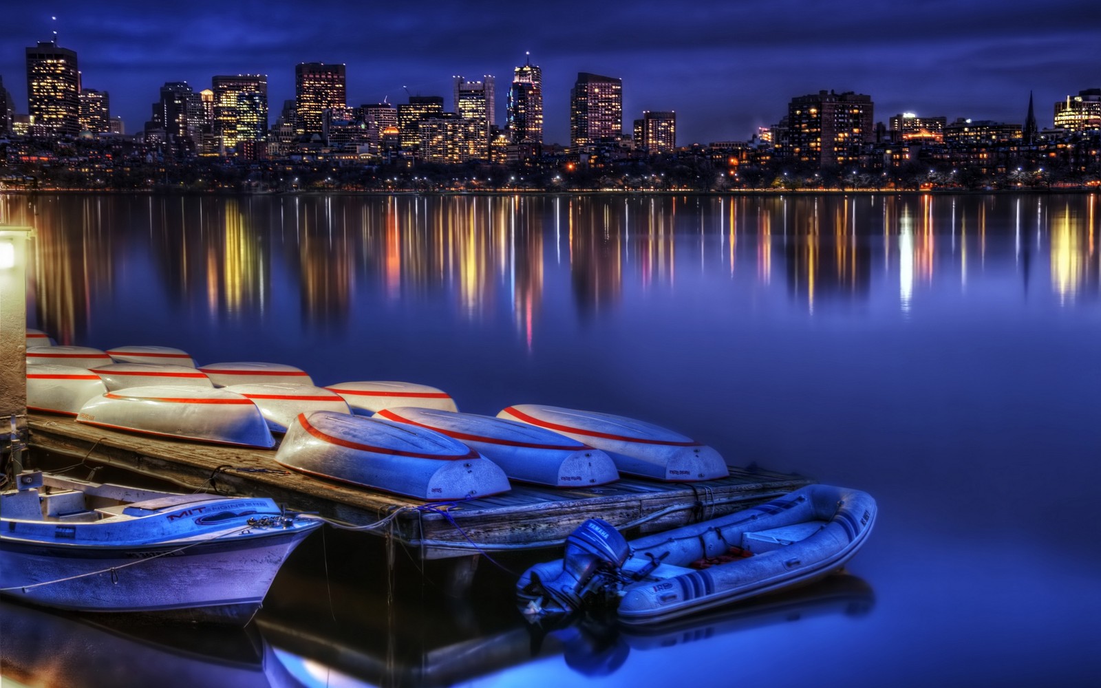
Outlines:
[[[28,426],[32,456],[118,467],[189,490],[269,496],[293,511],[393,536],[425,559],[557,546],[589,517],[633,533],[667,529],[814,482],[731,468],[729,478],[695,483],[628,478],[598,488],[554,489],[513,482],[504,494],[437,504],[301,474],[276,463],[271,449],[159,439],[47,414],[30,414]]]

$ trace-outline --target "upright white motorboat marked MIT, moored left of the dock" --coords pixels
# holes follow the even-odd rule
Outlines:
[[[272,500],[23,472],[0,493],[0,593],[80,612],[244,625],[321,521]]]

